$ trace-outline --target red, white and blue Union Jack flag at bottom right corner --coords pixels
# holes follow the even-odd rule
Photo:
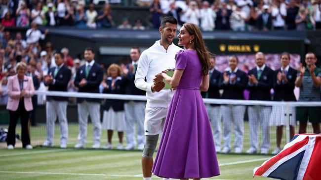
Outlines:
[[[279,154],[254,168],[254,176],[321,180],[321,134],[296,134]]]

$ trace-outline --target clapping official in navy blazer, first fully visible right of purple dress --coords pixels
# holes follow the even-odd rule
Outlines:
[[[222,94],[223,99],[244,100],[243,91],[246,87],[246,73],[238,68],[239,59],[231,56],[229,59],[229,70],[223,73]],[[231,150],[232,123],[234,123],[234,152],[241,153],[243,150],[244,136],[244,113],[243,105],[222,105],[223,139],[224,146],[222,153],[229,153]]]

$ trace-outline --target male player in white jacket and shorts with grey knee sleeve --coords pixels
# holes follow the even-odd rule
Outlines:
[[[165,86],[162,82],[154,85],[153,79],[161,71],[175,68],[175,55],[182,50],[172,43],[177,31],[177,20],[174,17],[164,17],[159,30],[161,40],[156,41],[142,53],[135,76],[135,86],[146,90],[147,97],[144,122],[145,147],[142,155],[143,180],[152,180],[153,153],[174,94],[171,90],[162,90]]]

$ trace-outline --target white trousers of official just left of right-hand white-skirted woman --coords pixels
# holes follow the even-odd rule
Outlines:
[[[248,121],[250,126],[250,148],[258,151],[259,147],[259,124],[262,130],[261,151],[270,149],[269,120],[271,107],[248,106]]]

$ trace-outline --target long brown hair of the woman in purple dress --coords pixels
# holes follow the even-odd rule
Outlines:
[[[197,55],[199,56],[201,62],[201,75],[207,75],[209,70],[209,52],[207,51],[204,40],[202,38],[201,30],[197,25],[193,23],[185,23],[183,26],[190,35],[195,35],[195,38],[192,41],[192,47],[197,51]]]

